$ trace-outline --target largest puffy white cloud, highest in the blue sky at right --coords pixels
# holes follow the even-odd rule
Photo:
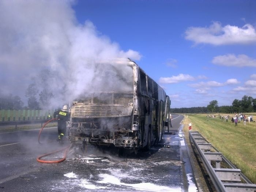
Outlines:
[[[185,31],[185,39],[194,41],[195,44],[255,44],[256,30],[246,24],[242,28],[237,26],[221,26],[219,22],[213,22],[210,27],[189,27]]]

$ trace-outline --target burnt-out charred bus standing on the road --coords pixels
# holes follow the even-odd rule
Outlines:
[[[69,142],[150,148],[169,130],[169,96],[129,59],[103,66],[108,70],[99,75],[97,91],[72,102]],[[107,86],[110,81],[114,84]]]

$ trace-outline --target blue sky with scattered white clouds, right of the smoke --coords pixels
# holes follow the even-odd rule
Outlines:
[[[139,52],[136,62],[173,108],[256,97],[256,1],[89,0],[74,10],[79,23],[89,19],[121,49]],[[246,25],[252,32],[243,39]]]

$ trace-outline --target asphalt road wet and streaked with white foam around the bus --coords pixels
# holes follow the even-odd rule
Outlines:
[[[119,157],[113,148],[87,148],[87,157],[73,150],[61,163],[37,162],[39,155],[69,146],[55,141],[57,128],[0,134],[0,192],[35,191],[195,191],[182,138],[183,117],[173,114],[163,140],[149,151]],[[180,132],[178,131],[180,130]],[[58,160],[64,151],[45,157]],[[90,157],[88,157],[90,156]],[[92,159],[91,157],[106,157]]]

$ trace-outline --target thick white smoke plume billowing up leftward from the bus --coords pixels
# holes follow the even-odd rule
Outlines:
[[[79,24],[72,3],[0,1],[0,94],[12,93],[25,100],[27,87],[36,83],[39,91],[52,91],[54,108],[68,103],[71,93],[88,90],[95,78],[95,62],[140,59],[138,52],[121,50],[101,35],[92,22]]]

